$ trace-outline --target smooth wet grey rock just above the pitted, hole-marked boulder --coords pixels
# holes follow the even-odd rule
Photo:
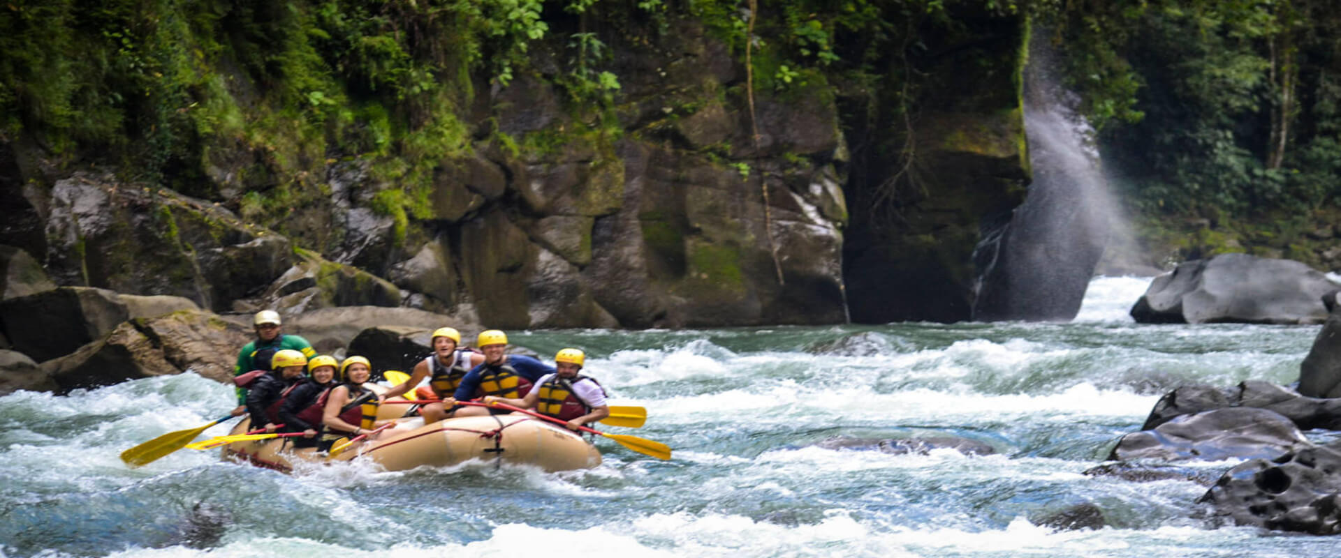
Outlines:
[[[1122,436],[1109,460],[1274,459],[1311,446],[1290,419],[1267,409],[1222,408],[1183,415]]]

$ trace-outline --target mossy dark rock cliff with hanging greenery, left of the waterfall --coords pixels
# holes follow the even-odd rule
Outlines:
[[[59,285],[221,313],[642,328],[841,322],[850,305],[955,321],[983,221],[1029,177],[1019,16],[885,7],[869,17],[886,48],[864,52],[842,21],[807,43],[817,16],[764,7],[746,52],[736,12],[547,7],[527,12],[544,28],[519,58],[429,7],[363,21],[358,3],[283,4],[180,24],[99,12],[142,41],[114,52],[141,58],[146,100],[107,104],[121,141],[12,102],[27,119],[0,134],[0,245]],[[821,47],[841,62],[789,67]]]

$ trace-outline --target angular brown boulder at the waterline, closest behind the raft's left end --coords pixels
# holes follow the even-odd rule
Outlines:
[[[40,368],[59,385],[58,393],[186,369],[229,381],[237,349],[248,340],[243,327],[209,312],[181,310],[125,321],[106,339],[42,363]]]

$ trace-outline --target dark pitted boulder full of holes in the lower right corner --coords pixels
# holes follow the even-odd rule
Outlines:
[[[1220,476],[1198,502],[1235,525],[1341,534],[1341,452],[1302,447],[1252,459]]]

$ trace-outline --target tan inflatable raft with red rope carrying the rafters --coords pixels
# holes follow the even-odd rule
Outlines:
[[[382,405],[396,407],[396,405]],[[233,434],[247,432],[244,419]],[[370,460],[388,471],[444,467],[481,462],[531,464],[546,471],[590,468],[601,464],[601,452],[581,435],[526,415],[463,416],[433,424],[422,417],[398,419],[394,428],[357,442],[334,458],[314,448],[295,450],[290,438],[235,442],[223,448],[224,459],[291,472],[296,462],[325,463]]]

